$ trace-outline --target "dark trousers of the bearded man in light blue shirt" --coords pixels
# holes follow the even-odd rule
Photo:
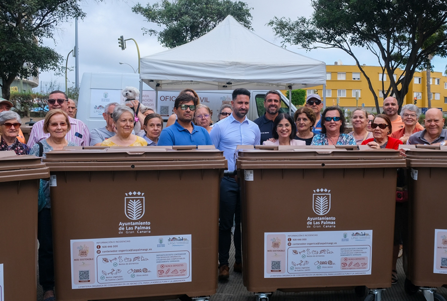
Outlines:
[[[234,228],[234,258],[236,263],[242,262],[240,237],[240,194],[239,185],[231,177],[223,177],[221,181],[220,210],[219,210],[219,262],[220,266],[228,265],[229,249],[231,246],[231,227],[233,218]]]

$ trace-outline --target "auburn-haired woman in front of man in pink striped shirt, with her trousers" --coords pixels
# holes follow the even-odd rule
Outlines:
[[[43,131],[50,137],[36,143],[29,154],[46,157],[46,152],[63,150],[64,147],[74,147],[76,144],[67,141],[65,136],[71,130],[71,124],[66,112],[53,109],[47,113],[43,123]],[[44,292],[44,300],[54,300],[54,261],[53,236],[51,225],[50,184],[40,180],[37,215],[37,239],[39,240],[38,264],[39,282]],[[51,299],[53,297],[53,299]]]

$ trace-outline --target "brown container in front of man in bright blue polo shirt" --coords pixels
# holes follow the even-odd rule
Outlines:
[[[45,159],[58,300],[215,294],[223,153],[71,149]]]

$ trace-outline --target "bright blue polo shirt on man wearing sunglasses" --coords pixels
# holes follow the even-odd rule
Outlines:
[[[192,133],[175,121],[173,125],[161,131],[157,146],[213,145],[210,134],[205,128],[191,124],[193,126]]]

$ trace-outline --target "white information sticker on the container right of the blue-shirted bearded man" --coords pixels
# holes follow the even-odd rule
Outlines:
[[[373,230],[264,235],[264,278],[371,275]]]

